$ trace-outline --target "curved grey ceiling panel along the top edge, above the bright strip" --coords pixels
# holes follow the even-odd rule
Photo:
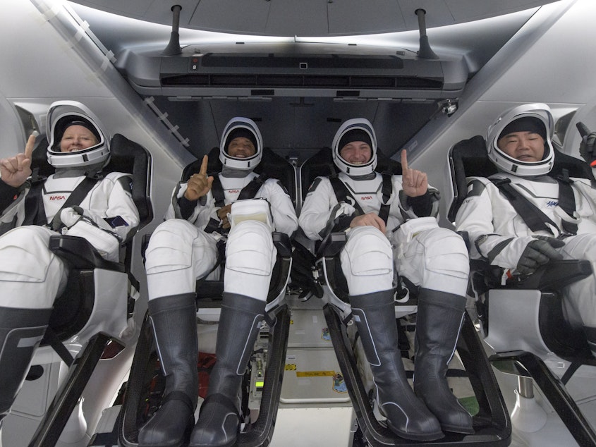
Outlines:
[[[71,0],[73,3],[171,25],[171,7],[182,7],[180,26],[195,30],[270,36],[327,36],[418,30],[500,16],[557,0]]]

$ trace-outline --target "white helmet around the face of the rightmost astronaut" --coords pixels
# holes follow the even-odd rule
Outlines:
[[[519,161],[509,157],[497,146],[499,135],[509,123],[519,118],[537,118],[545,125],[545,155],[540,161]],[[516,176],[542,176],[550,172],[554,164],[554,149],[552,146],[552,135],[554,133],[554,119],[547,104],[533,103],[513,107],[504,112],[497,121],[488,128],[487,132],[487,154],[490,159],[502,171],[515,174]]]

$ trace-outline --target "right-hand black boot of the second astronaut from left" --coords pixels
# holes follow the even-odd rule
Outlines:
[[[191,447],[222,447],[236,443],[240,417],[238,392],[264,317],[265,302],[224,292],[217,329],[217,361]]]

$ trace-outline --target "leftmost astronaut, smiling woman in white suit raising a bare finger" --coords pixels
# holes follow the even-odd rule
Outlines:
[[[34,136],[24,153],[0,160],[0,424],[66,287],[68,266],[48,249],[50,236],[80,236],[113,261],[139,223],[128,174],[101,174],[109,135],[97,117],[78,102],[54,102],[46,129],[55,168],[47,179],[30,178]]]

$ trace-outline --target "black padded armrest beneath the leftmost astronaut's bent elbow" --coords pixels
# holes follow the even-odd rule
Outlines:
[[[126,272],[124,264],[106,261],[86,239],[78,236],[52,235],[49,250],[75,269],[106,269]]]

